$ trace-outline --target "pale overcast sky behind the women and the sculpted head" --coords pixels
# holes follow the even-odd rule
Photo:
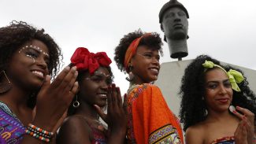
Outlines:
[[[161,34],[158,13],[168,0],[1,0],[0,26],[11,20],[24,20],[44,28],[62,48],[65,65],[76,47],[91,52],[113,49],[123,35],[138,30]],[[256,70],[255,0],[180,0],[190,15],[188,56],[209,54],[220,61]],[[165,42],[164,42],[165,43]],[[161,62],[176,61],[163,46]],[[253,58],[254,57],[254,58]],[[113,61],[115,82],[121,91],[128,82]]]

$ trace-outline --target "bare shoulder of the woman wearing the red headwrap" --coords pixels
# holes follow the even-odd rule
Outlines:
[[[89,144],[90,127],[80,116],[69,116],[61,125],[57,136],[57,144]]]

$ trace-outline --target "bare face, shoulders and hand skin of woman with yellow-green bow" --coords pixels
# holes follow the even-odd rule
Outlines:
[[[235,136],[236,144],[253,143],[254,114],[240,107],[236,107],[235,116],[228,113],[228,106],[232,102],[232,88],[228,76],[220,68],[206,72],[205,99],[208,116],[201,123],[187,128],[187,144],[209,144],[217,138],[227,136]]]

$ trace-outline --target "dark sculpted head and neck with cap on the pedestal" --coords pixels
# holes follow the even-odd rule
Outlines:
[[[187,9],[176,0],[170,0],[161,7],[159,23],[161,31],[165,33],[165,42],[168,43],[172,58],[187,56],[187,29],[189,18]]]

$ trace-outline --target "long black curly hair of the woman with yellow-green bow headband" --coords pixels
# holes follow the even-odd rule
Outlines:
[[[195,60],[187,66],[181,80],[179,92],[181,96],[180,122],[184,123],[184,131],[187,130],[187,127],[206,120],[206,103],[203,100],[203,97],[206,95],[206,72],[204,72],[204,68],[202,67],[202,64],[206,60],[213,61],[214,64],[220,65],[227,72],[232,68],[231,66],[221,65],[220,61],[217,61],[207,55],[200,55],[196,57]],[[212,69],[213,68],[211,68],[211,70]],[[236,69],[243,73],[237,68],[232,69]],[[246,78],[242,83],[239,83],[239,88],[241,92],[233,90],[232,105],[239,105],[243,108],[249,109],[252,113],[256,113],[255,94],[250,90],[250,87],[248,87]]]

